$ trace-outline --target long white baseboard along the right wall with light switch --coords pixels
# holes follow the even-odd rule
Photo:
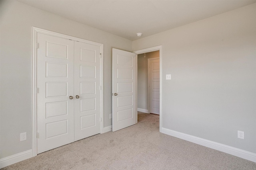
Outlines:
[[[230,147],[228,145],[224,145],[224,144],[221,144],[221,143],[208,141],[206,139],[202,139],[202,138],[195,137],[195,136],[192,136],[192,135],[188,135],[188,134],[185,134],[185,133],[172,131],[172,130],[166,129],[164,127],[162,127],[162,133],[164,133],[166,135],[173,136],[173,137],[177,137],[177,138],[180,138],[180,139],[184,139],[185,141],[190,141],[192,143],[196,143],[196,144],[202,145],[204,147],[208,147],[208,148],[211,148],[211,149],[219,150],[221,152],[232,154],[234,156],[238,156],[240,158],[244,158],[244,159],[250,160],[252,162],[256,162],[256,153],[253,153],[253,152],[248,152],[246,150],[238,149],[238,148],[235,148],[235,147]]]

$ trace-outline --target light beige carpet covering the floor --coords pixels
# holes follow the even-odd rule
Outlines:
[[[159,132],[159,116],[38,154],[3,170],[256,170],[256,163]]]

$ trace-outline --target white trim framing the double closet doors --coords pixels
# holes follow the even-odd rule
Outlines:
[[[73,41],[79,41],[82,43],[88,43],[92,45],[96,45],[100,47],[101,51],[101,60],[100,60],[100,86],[101,86],[101,92],[100,92],[100,117],[101,117],[101,123],[100,123],[100,133],[103,133],[103,44],[96,43],[93,41],[88,41],[85,39],[80,39],[77,37],[72,37],[69,35],[64,35],[61,33],[56,33],[53,31],[48,31],[45,29],[32,27],[33,29],[33,58],[32,58],[32,156],[37,155],[37,33],[43,33],[46,35],[51,35],[55,37],[60,37],[64,39],[71,39]]]

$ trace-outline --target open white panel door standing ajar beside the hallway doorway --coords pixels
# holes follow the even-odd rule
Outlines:
[[[112,130],[136,123],[136,54],[112,50]]]

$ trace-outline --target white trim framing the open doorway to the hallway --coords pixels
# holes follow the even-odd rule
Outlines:
[[[159,113],[159,131],[162,132],[162,45],[156,46],[156,47],[150,47],[147,49],[141,49],[137,51],[133,51],[133,53],[136,54],[136,74],[138,74],[138,54],[142,53],[149,53],[153,51],[158,51],[159,50],[159,59],[160,59],[160,113]],[[138,75],[136,75],[138,77]],[[137,81],[138,82],[138,81]],[[136,108],[137,108],[137,84],[136,82]],[[136,110],[136,123],[138,121],[138,112]]]

